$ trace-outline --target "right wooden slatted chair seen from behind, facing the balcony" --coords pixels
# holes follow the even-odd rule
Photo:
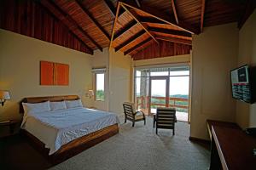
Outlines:
[[[175,135],[175,122],[177,122],[176,111],[172,108],[158,107],[156,110],[156,128],[157,134],[158,128],[172,129],[172,134]]]

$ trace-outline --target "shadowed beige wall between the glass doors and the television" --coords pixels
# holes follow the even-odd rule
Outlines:
[[[236,67],[236,23],[212,26],[193,36],[190,136],[208,139],[207,119],[235,122],[236,101],[231,97],[230,70]]]

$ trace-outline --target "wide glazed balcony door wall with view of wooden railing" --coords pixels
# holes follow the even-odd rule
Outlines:
[[[134,85],[137,110],[152,115],[157,107],[172,107],[177,120],[188,121],[188,65],[136,69]]]

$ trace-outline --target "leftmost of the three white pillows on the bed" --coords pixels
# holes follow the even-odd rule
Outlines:
[[[22,103],[22,106],[25,113],[40,113],[44,111],[50,111],[49,101],[36,104]]]

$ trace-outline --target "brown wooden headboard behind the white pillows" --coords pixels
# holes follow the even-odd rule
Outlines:
[[[31,97],[24,98],[20,101],[20,113],[24,113],[22,103],[40,103],[44,101],[63,101],[63,100],[75,100],[80,99],[78,95],[63,95],[63,96],[44,96],[44,97]]]

